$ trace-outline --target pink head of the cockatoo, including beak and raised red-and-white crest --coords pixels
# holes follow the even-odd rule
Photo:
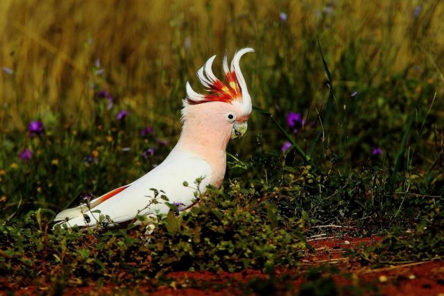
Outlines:
[[[234,54],[230,68],[227,55],[223,58],[223,71],[226,83],[221,82],[212,71],[216,55],[205,62],[197,71],[200,82],[208,94],[194,92],[187,82],[187,98],[183,100],[182,121],[192,124],[205,132],[216,132],[223,137],[235,139],[243,137],[247,130],[247,120],[252,105],[244,76],[239,67],[239,60],[245,53],[253,52],[246,48]]]

